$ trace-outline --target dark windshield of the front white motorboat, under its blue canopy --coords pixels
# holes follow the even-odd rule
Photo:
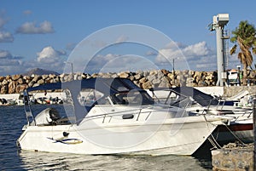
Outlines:
[[[145,91],[131,90],[111,96],[113,105],[152,105],[154,100]]]

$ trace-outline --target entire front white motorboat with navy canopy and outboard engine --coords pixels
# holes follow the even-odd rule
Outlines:
[[[155,104],[146,91],[124,78],[90,78],[27,88],[24,101],[29,101],[28,91],[47,89],[63,89],[67,105],[44,105],[46,108],[34,116],[26,103],[28,123],[17,140],[21,150],[192,155],[218,125],[229,120],[207,114],[189,116],[177,106]],[[61,117],[53,106],[63,106],[62,113],[67,116]]]

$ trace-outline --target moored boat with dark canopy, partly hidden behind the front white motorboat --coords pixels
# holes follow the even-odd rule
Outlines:
[[[253,142],[252,109],[227,105],[230,101],[226,103],[191,87],[155,88],[148,93],[162,104],[184,108],[190,115],[211,114],[212,117],[232,118],[229,124],[218,125],[212,133],[220,145],[237,140],[241,143]]]

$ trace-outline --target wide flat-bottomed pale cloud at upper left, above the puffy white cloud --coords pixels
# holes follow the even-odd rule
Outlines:
[[[22,34],[46,34],[54,32],[54,29],[51,23],[45,20],[39,26],[35,22],[26,22],[16,32]]]

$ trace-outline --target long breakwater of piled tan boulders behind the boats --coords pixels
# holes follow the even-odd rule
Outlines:
[[[119,73],[74,73],[49,75],[12,75],[0,77],[0,94],[15,94],[25,88],[35,87],[44,83],[67,82],[71,80],[88,79],[91,77],[123,77],[131,79],[140,88],[169,88],[179,86],[214,86],[217,82],[217,73],[214,71],[123,71]]]

